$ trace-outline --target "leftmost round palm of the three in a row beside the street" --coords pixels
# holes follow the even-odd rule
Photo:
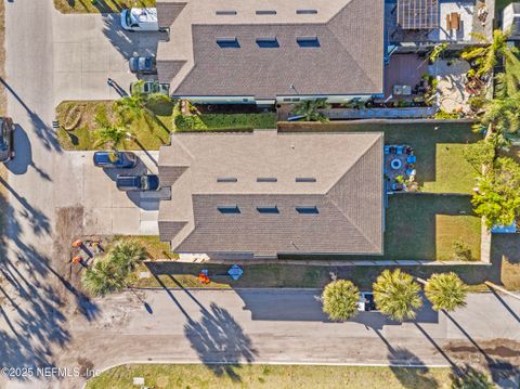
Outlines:
[[[323,289],[323,311],[332,320],[344,321],[358,313],[359,299],[360,290],[350,281],[333,281]]]

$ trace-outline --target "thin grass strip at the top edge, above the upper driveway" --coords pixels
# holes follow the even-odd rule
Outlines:
[[[54,8],[62,13],[119,13],[132,7],[155,7],[155,0],[54,0]]]

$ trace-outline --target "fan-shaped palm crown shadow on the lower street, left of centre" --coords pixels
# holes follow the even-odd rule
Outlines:
[[[257,355],[250,338],[230,312],[214,302],[209,310],[200,311],[200,321],[190,320],[184,326],[184,335],[190,339],[200,362],[216,376],[225,375],[234,381],[240,381],[240,363],[251,363]]]

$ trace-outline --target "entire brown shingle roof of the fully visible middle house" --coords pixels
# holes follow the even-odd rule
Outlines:
[[[382,133],[174,133],[159,233],[176,252],[382,254]]]

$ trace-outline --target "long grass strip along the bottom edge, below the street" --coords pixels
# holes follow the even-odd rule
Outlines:
[[[451,388],[450,368],[309,366],[309,365],[167,365],[114,367],[92,378],[88,389],[132,388],[133,377],[161,388]]]

